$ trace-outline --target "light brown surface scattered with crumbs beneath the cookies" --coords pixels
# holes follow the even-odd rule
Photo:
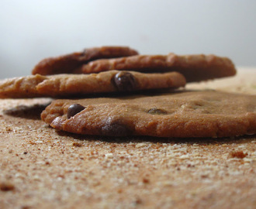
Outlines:
[[[256,95],[256,69],[187,88]],[[49,102],[0,100],[0,208],[256,207],[256,135],[72,135],[40,121]]]

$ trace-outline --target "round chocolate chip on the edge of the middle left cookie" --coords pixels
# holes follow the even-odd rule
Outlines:
[[[137,87],[136,78],[133,74],[122,71],[114,77],[114,83],[119,91],[133,91]]]

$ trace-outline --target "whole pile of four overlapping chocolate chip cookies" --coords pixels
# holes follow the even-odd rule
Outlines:
[[[65,132],[181,138],[256,132],[254,95],[184,88],[234,76],[227,57],[139,55],[103,46],[47,58],[32,74],[1,81],[0,98],[58,98],[41,118]]]

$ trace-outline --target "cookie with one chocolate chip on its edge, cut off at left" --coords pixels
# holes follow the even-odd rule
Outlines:
[[[0,98],[68,97],[184,86],[185,77],[175,72],[141,74],[109,70],[100,74],[36,74],[0,81]]]

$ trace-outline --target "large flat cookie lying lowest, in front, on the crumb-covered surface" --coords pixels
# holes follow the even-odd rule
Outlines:
[[[256,96],[219,91],[53,101],[53,128],[85,135],[227,137],[256,132]]]

